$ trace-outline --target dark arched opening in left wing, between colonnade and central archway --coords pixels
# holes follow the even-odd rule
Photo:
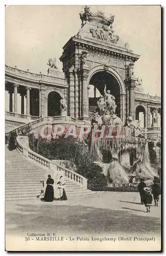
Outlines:
[[[57,92],[48,94],[48,116],[60,116],[61,96]]]

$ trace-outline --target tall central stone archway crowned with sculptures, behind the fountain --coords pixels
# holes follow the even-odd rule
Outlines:
[[[80,14],[80,30],[63,47],[60,60],[68,83],[68,115],[76,119],[90,119],[89,86],[93,84],[103,94],[104,83],[116,97],[122,121],[128,115],[134,118],[133,66],[140,55],[119,40],[113,30],[114,17],[92,13],[86,6]]]

